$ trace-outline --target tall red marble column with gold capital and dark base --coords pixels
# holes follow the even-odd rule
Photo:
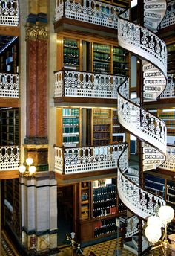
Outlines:
[[[26,138],[24,158],[32,157],[36,171],[48,170],[47,28],[27,23]]]

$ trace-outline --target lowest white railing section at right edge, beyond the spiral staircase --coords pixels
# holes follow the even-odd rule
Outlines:
[[[160,166],[160,168],[175,171],[175,145],[167,146],[166,161]]]

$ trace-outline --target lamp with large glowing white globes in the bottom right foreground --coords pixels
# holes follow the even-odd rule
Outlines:
[[[163,255],[167,255],[170,244],[167,239],[167,224],[174,218],[174,209],[171,206],[164,205],[159,208],[158,216],[148,217],[147,227],[145,228],[145,236],[152,243],[152,248],[161,248]],[[165,227],[162,234],[162,227]],[[160,239],[162,236],[162,239]],[[159,243],[158,245],[155,245]]]

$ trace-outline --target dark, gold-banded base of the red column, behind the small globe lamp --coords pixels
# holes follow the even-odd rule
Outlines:
[[[33,158],[36,171],[48,170],[48,145],[24,144],[24,158]]]

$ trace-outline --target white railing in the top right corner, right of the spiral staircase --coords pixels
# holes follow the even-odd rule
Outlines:
[[[160,23],[160,28],[166,28],[168,26],[174,25],[175,23],[175,1],[168,2],[167,11],[165,13],[165,18]]]

